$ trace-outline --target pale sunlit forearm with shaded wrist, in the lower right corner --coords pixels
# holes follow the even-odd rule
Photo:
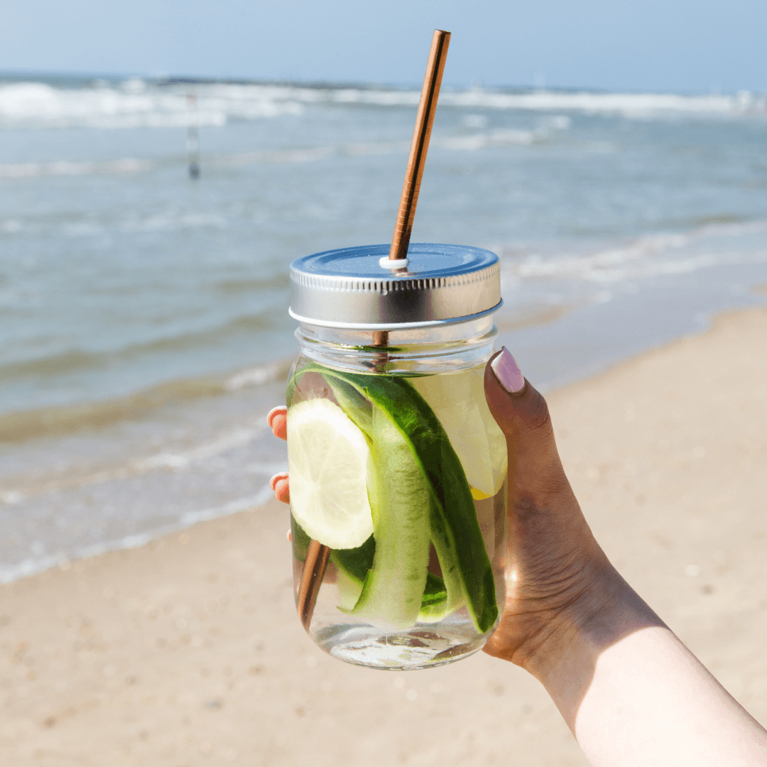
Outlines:
[[[767,765],[767,732],[625,581],[594,591],[525,664],[591,765]]]

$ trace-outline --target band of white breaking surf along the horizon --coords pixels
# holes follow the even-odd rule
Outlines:
[[[0,86],[0,128],[102,129],[221,127],[229,120],[300,115],[313,105],[416,107],[419,91],[374,87],[268,84],[158,84],[130,80],[100,87],[54,87],[41,82]],[[470,88],[440,95],[442,107],[657,117],[749,117],[767,114],[767,97],[621,94],[590,91],[503,91]]]

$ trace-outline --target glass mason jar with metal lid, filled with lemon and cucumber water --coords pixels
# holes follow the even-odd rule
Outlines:
[[[499,259],[463,245],[291,264],[295,598],[309,636],[390,670],[481,649],[505,601],[506,443],[484,391]]]

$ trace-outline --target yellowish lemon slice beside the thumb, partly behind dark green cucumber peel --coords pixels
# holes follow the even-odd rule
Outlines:
[[[495,495],[506,476],[506,438],[487,407],[485,368],[407,380],[442,423],[472,489],[480,499]]]

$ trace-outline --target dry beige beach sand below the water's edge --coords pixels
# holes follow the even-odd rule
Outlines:
[[[767,311],[548,397],[597,539],[767,723]],[[327,657],[276,503],[2,588],[0,764],[584,765],[548,696],[482,653]]]

